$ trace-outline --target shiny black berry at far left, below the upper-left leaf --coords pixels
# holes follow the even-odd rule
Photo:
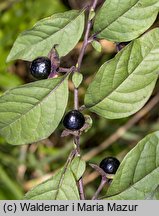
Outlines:
[[[51,72],[51,61],[47,57],[39,57],[32,61],[30,71],[36,79],[47,79]]]

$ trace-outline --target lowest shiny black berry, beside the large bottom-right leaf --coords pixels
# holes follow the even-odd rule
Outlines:
[[[115,174],[119,165],[120,162],[118,159],[114,157],[107,157],[100,162],[99,167],[108,174]]]

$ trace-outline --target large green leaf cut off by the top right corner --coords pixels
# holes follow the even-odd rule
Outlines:
[[[158,0],[106,0],[94,23],[98,38],[124,42],[137,38],[155,21]]]

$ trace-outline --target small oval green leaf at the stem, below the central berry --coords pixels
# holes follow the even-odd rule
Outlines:
[[[78,181],[86,169],[86,162],[80,157],[75,157],[71,163],[71,171],[73,172],[76,180]]]

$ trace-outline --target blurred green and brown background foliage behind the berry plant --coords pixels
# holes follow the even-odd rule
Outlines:
[[[6,64],[6,57],[18,34],[31,26],[39,19],[57,12],[69,9],[80,9],[90,1],[83,0],[0,0],[0,94],[9,88],[33,81],[29,73],[29,63],[17,60]],[[99,6],[103,1],[99,0]],[[158,19],[156,24],[158,26]],[[83,104],[84,93],[93,74],[100,65],[116,54],[114,43],[100,41],[102,52],[99,53],[90,45],[86,50],[82,73],[84,82],[80,88],[80,104]],[[81,42],[67,56],[61,59],[63,67],[75,65]],[[73,107],[73,86],[70,81],[70,100],[68,110]],[[157,83],[152,95],[157,94]],[[150,99],[151,100],[151,99]],[[158,99],[157,99],[158,100]],[[106,156],[116,156],[122,160],[125,154],[146,134],[159,129],[159,104],[149,108],[143,117],[140,115],[120,120],[107,120],[96,114],[89,113],[93,119],[92,128],[81,137],[82,155],[91,163],[99,164]],[[140,113],[139,113],[140,114]],[[137,119],[133,122],[131,119]],[[129,130],[120,137],[121,127],[128,124]],[[131,123],[132,122],[132,123]],[[28,125],[29,126],[29,125]],[[49,178],[57,169],[64,165],[70,150],[73,147],[72,138],[61,138],[62,124],[46,140],[25,146],[11,146],[0,137],[0,199],[22,199],[23,194],[33,186]],[[118,132],[116,132],[118,130]],[[109,145],[109,136],[113,139]],[[99,149],[98,149],[99,147]],[[89,154],[94,150],[93,157]],[[87,163],[88,164],[88,163]],[[98,174],[87,165],[84,183],[87,198],[90,199],[100,182]],[[106,187],[103,190],[105,193]]]

